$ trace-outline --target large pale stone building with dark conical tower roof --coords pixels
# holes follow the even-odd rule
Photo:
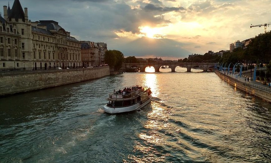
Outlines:
[[[27,8],[14,0],[0,15],[0,69],[76,68],[81,44],[56,21],[28,20]]]

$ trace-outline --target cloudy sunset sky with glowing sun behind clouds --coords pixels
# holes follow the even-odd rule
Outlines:
[[[13,0],[0,0],[10,7]],[[20,0],[28,19],[54,20],[77,40],[104,42],[125,57],[178,60],[229,50],[264,33],[270,0]],[[3,13],[3,8],[0,10]],[[2,14],[3,15],[3,14]],[[271,30],[271,26],[267,27]]]

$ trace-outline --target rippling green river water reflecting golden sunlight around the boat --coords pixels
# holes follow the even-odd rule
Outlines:
[[[214,72],[123,73],[0,98],[1,163],[270,162],[271,105]],[[137,112],[103,112],[113,89],[150,86]]]

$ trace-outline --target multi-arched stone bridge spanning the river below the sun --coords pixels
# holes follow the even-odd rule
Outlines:
[[[140,72],[145,72],[146,67],[154,67],[155,72],[159,72],[161,66],[169,66],[171,68],[171,72],[175,72],[175,68],[185,67],[187,68],[188,72],[191,72],[191,68],[199,68],[203,71],[207,71],[208,68],[212,68],[216,66],[218,63],[193,63],[193,62],[157,62],[157,63],[123,63],[123,68],[131,68],[131,67],[138,67],[140,68]]]

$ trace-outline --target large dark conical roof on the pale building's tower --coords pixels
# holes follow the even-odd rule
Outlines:
[[[9,20],[11,21],[12,18],[15,18],[16,21],[19,19],[22,19],[22,21],[25,21],[25,13],[21,7],[21,3],[19,0],[14,0],[10,15],[9,15]]]

